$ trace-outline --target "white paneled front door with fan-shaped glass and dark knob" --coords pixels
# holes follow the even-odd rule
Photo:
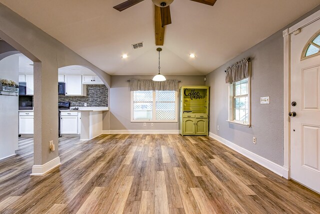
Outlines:
[[[290,173],[291,178],[320,192],[320,55],[301,60],[320,20],[291,35]],[[315,49],[316,51],[316,49]],[[315,52],[314,52],[315,53]],[[287,112],[284,112],[287,114]]]

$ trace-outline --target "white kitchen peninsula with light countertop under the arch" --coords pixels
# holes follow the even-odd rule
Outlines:
[[[91,140],[102,134],[102,112],[108,107],[79,107],[77,110],[60,110],[61,112],[81,112],[80,140]]]

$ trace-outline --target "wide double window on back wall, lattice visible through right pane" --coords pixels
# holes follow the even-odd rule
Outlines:
[[[176,91],[131,91],[131,122],[177,122]]]

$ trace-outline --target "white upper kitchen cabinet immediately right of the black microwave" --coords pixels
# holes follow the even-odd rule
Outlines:
[[[64,75],[65,96],[86,96],[86,85],[81,75]]]

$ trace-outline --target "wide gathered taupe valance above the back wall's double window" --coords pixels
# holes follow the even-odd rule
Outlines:
[[[178,91],[177,80],[156,82],[152,80],[130,80],[130,91]]]

